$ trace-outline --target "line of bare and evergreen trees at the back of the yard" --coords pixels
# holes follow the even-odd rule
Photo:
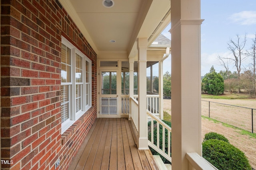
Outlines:
[[[208,92],[208,94],[210,92],[210,94],[215,95],[222,94],[224,90],[231,94],[244,92],[256,98],[256,33],[251,41],[251,46],[248,49],[246,47],[248,47],[246,35],[243,37],[236,35],[236,39],[228,41],[228,50],[232,54],[231,57],[218,55],[218,60],[224,70],[216,73],[212,66],[210,73],[207,73],[202,79],[202,92]],[[236,71],[231,72],[230,67],[235,68]],[[209,79],[217,78],[217,75],[219,80],[211,80],[215,83],[219,82],[215,85],[214,92],[212,92],[213,84],[211,84],[211,81],[209,82]],[[220,76],[223,78],[223,88]]]

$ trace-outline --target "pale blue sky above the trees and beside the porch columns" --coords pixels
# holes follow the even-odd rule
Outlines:
[[[247,34],[247,47],[251,46],[256,33],[256,0],[201,0],[201,18],[204,19],[201,25],[201,75],[204,76],[212,65],[217,72],[224,70],[217,56],[232,55],[227,43],[236,40],[236,35]],[[163,34],[170,38],[168,30],[170,25]],[[164,63],[164,72],[170,72],[170,57]],[[235,70],[233,65],[229,64],[231,71]]]

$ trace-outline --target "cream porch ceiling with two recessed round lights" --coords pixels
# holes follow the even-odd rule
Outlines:
[[[151,36],[150,45],[170,23],[170,0],[113,1],[106,8],[102,0],[60,0],[96,53],[134,54],[138,37]]]

